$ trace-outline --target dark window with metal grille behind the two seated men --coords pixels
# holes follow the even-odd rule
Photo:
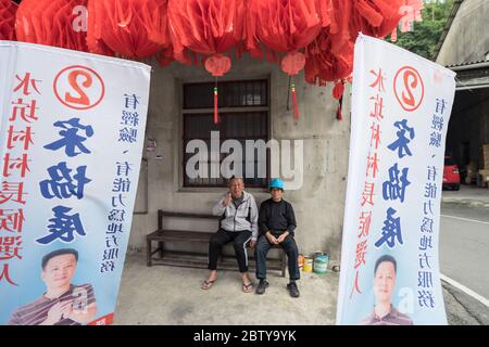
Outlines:
[[[218,155],[218,178],[212,177],[211,131],[220,132],[220,145],[226,140],[236,140],[242,149],[242,175],[244,184],[251,188],[265,188],[268,181],[268,151],[266,163],[259,162],[259,151],[254,151],[254,160],[247,163],[246,141],[269,140],[269,110],[267,80],[218,82],[220,123],[214,124],[214,83],[184,85],[184,187],[225,187],[227,181],[222,177],[221,164],[229,155]],[[190,178],[187,175],[187,162],[197,155],[186,153],[191,140],[202,140],[208,146],[208,163],[204,166],[206,177]],[[234,168],[231,166],[231,168]],[[265,170],[266,177],[263,176]],[[249,177],[250,172],[254,172]],[[214,175],[215,176],[215,175]]]

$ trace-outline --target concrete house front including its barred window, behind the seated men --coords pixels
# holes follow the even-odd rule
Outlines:
[[[331,264],[339,262],[350,142],[349,89],[342,103],[343,120],[338,120],[333,85],[311,86],[300,74],[294,78],[300,110],[300,118],[296,120],[289,76],[276,64],[246,55],[234,60],[231,69],[218,78],[222,121],[214,126],[214,82],[202,66],[153,64],[146,133],[151,141],[149,151],[143,153],[129,249],[145,248],[146,234],[156,229],[158,209],[211,213],[226,191],[225,182],[187,177],[189,155],[185,152],[190,140],[209,143],[210,132],[220,130],[221,144],[225,139],[290,140],[291,144],[302,141],[303,165],[293,168],[296,175],[302,176],[302,187],[285,193],[296,210],[299,250],[327,252]],[[269,179],[269,169],[267,176]],[[269,197],[266,184],[267,180],[247,180],[247,191],[258,204]],[[212,231],[217,226],[192,223],[184,220],[175,228]],[[168,247],[177,249],[178,245]]]

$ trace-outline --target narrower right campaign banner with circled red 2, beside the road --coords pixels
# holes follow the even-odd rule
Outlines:
[[[356,40],[337,324],[447,324],[438,244],[454,76]]]

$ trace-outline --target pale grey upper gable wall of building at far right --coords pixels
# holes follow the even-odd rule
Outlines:
[[[465,0],[437,57],[441,65],[485,61],[489,53],[489,1]]]

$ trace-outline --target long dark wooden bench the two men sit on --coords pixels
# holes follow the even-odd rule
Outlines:
[[[162,209],[158,210],[158,229],[153,231],[152,233],[148,234],[146,236],[147,242],[147,266],[151,267],[153,262],[155,265],[168,265],[168,266],[180,266],[180,267],[189,267],[189,268],[206,268],[208,267],[208,258],[205,254],[205,258],[202,260],[195,259],[195,256],[198,254],[195,253],[188,253],[188,252],[176,252],[176,250],[166,250],[164,245],[165,242],[176,242],[176,243],[196,243],[196,244],[209,244],[209,240],[215,232],[203,232],[203,231],[193,231],[193,230],[171,230],[165,229],[163,227],[163,218],[186,218],[186,219],[212,219],[217,221],[218,218],[213,215],[206,215],[206,214],[189,214],[189,213],[173,213],[173,211],[165,211]],[[216,226],[217,230],[217,226]],[[152,243],[158,242],[156,249],[153,250]],[[280,246],[275,245],[274,248],[279,248],[280,259],[279,259],[279,267],[278,270],[281,271],[281,277],[285,277],[285,271],[287,267],[287,255],[281,249]],[[159,254],[159,258],[153,258],[154,254]],[[175,257],[171,256],[193,256],[193,258],[187,258],[187,259],[176,259]],[[168,257],[170,256],[170,257]],[[202,258],[202,255],[200,255]],[[234,264],[229,264],[229,266],[223,267],[223,258],[221,258],[221,265],[220,269],[229,269],[229,270],[238,270],[236,260]],[[156,261],[154,261],[156,260]],[[250,266],[252,267],[252,266]],[[277,269],[277,267],[274,267],[272,264],[267,264],[267,268],[269,269]]]

